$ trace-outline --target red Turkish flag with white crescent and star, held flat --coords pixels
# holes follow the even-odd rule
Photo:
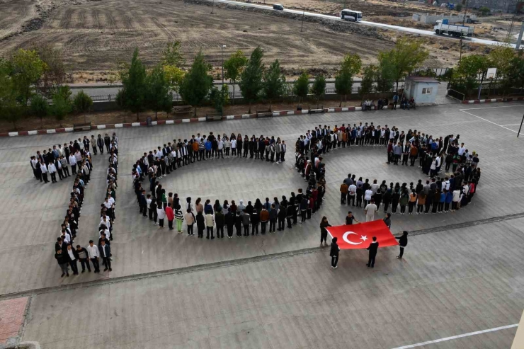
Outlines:
[[[368,248],[373,236],[377,237],[379,247],[399,244],[382,219],[359,224],[328,227],[327,231],[332,238],[335,236],[338,238],[336,243],[341,249]]]

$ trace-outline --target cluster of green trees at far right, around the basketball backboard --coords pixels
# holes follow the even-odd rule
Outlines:
[[[486,76],[489,68],[496,68],[495,76]],[[509,46],[498,46],[488,55],[462,57],[453,69],[452,89],[470,95],[479,85],[490,79],[502,95],[511,88],[524,88],[524,55]]]

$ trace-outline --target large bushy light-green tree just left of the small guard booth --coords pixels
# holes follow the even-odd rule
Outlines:
[[[397,84],[396,90],[399,91],[400,79],[420,67],[428,55],[428,50],[422,46],[420,40],[399,38],[392,50],[379,53],[379,61],[387,60],[392,64],[392,77]]]

